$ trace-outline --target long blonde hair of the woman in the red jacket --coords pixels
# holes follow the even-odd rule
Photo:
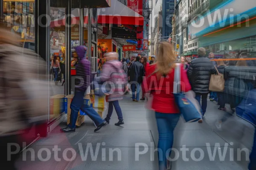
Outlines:
[[[161,75],[167,75],[175,68],[177,57],[170,42],[161,42],[158,47],[157,71]]]

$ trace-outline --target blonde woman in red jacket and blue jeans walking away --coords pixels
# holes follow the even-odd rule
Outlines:
[[[175,103],[173,92],[175,67],[177,57],[174,54],[173,45],[169,42],[160,42],[157,62],[148,66],[146,78],[148,90],[151,91],[153,101],[151,108],[155,111],[157,120],[158,140],[158,164],[159,170],[167,170],[169,156],[171,155],[174,141],[174,130],[180,119],[180,111]],[[180,65],[180,81],[184,83],[184,92],[190,91],[191,86]],[[152,83],[156,82],[156,83]],[[150,87],[151,86],[151,87]]]

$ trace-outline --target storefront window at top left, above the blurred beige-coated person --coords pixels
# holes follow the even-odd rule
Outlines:
[[[20,35],[20,46],[35,51],[35,0],[3,0],[3,24]]]

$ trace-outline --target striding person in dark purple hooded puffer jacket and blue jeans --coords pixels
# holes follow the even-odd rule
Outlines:
[[[76,64],[75,95],[70,104],[70,124],[67,125],[67,127],[62,128],[61,132],[76,131],[76,119],[80,109],[85,111],[90,119],[96,124],[97,128],[94,132],[106,125],[106,121],[103,120],[90,105],[84,105],[84,94],[87,91],[87,88],[90,87],[93,78],[90,70],[90,62],[85,58],[86,51],[87,48],[85,46],[80,45],[76,47],[78,64]]]

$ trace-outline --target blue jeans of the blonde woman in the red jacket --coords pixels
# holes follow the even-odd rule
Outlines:
[[[159,170],[166,170],[167,158],[171,155],[170,149],[173,144],[173,131],[180,119],[180,113],[156,112],[158,140],[158,164]],[[167,153],[168,152],[168,153]]]

